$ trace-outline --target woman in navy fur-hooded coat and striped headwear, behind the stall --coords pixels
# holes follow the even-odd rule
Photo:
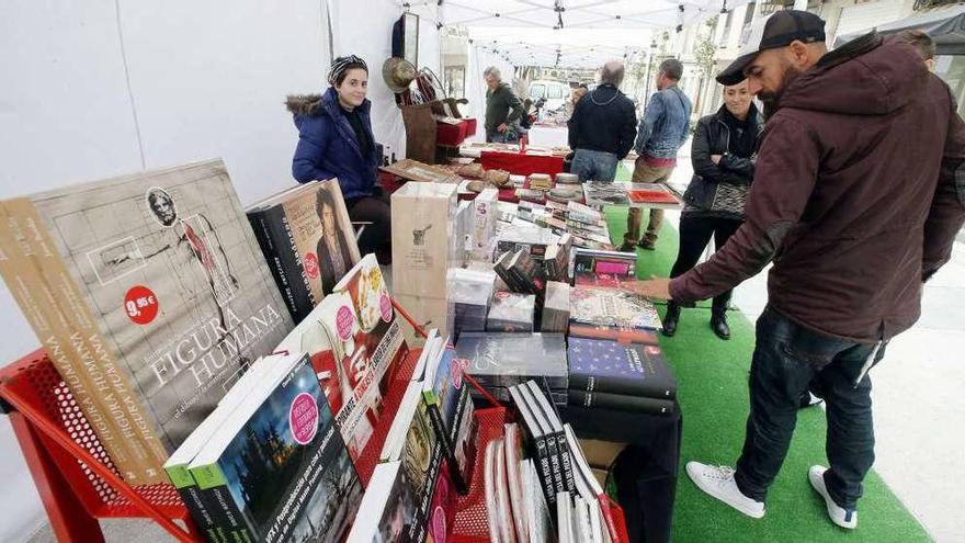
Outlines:
[[[391,207],[376,185],[382,147],[372,135],[368,67],[350,55],[332,63],[325,94],[288,97],[298,146],[292,174],[298,182],[338,178],[353,223],[365,223],[359,238],[363,254],[391,263]]]

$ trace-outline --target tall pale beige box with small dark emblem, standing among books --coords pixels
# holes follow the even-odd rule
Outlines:
[[[457,186],[409,182],[391,196],[394,294],[444,298],[453,252]]]

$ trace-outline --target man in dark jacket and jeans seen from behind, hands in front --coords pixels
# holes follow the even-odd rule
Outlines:
[[[603,65],[600,87],[577,102],[569,120],[569,146],[575,151],[570,171],[580,182],[613,181],[616,165],[633,147],[637,117],[633,102],[618,89],[623,73],[620,60]]]

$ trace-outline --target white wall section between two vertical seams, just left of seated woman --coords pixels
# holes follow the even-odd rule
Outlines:
[[[294,183],[286,93],[318,88],[318,1],[121,2],[148,168],[225,159],[242,202]]]

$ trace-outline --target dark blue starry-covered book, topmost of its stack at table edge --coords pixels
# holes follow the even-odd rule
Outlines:
[[[677,396],[677,378],[657,346],[570,337],[567,354],[570,391],[657,399]]]

